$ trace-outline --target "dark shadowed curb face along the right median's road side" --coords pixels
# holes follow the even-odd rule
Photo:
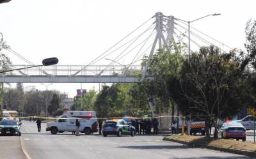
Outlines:
[[[188,146],[196,147],[196,148],[207,148],[207,149],[213,149],[213,150],[217,150],[217,151],[223,151],[223,152],[226,152],[226,153],[235,153],[235,154],[238,154],[238,155],[246,155],[246,156],[256,157],[256,152],[253,152],[253,151],[244,151],[244,150],[238,150],[238,149],[220,148],[220,147],[216,147],[216,146],[208,146],[208,145],[204,145],[204,144],[198,144],[198,143],[195,143],[195,142],[188,142],[188,141],[170,139],[168,137],[164,137],[163,140],[178,142],[180,144],[186,144]]]

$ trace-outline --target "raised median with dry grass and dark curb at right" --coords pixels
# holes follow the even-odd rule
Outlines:
[[[178,142],[196,148],[207,148],[227,153],[256,157],[256,144],[228,139],[213,139],[203,136],[170,135],[163,140]]]

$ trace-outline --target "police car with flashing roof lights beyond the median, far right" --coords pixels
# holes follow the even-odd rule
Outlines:
[[[223,123],[219,130],[223,139],[246,140],[246,128],[241,123]]]

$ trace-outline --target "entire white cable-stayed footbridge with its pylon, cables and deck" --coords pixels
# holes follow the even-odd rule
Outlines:
[[[187,33],[190,33],[189,37]],[[1,71],[35,66],[28,59],[11,49],[0,34],[0,52],[12,54],[24,61],[24,65],[2,66]],[[39,66],[15,70],[11,73],[0,73],[0,82],[22,83],[125,83],[150,80],[153,75],[148,74],[148,67],[154,52],[159,49],[167,50],[172,54],[173,46],[177,42],[187,46],[192,43],[191,49],[196,50],[202,46],[215,45],[221,50],[230,49],[224,43],[190,27],[186,21],[173,16],[156,15],[136,27],[131,33],[124,36],[115,45],[99,54],[93,61],[84,65],[54,65]],[[184,54],[188,52],[184,50]],[[145,59],[143,56],[147,56]],[[12,59],[12,58],[11,58]],[[143,60],[142,60],[143,59]],[[102,61],[108,64],[101,64]],[[123,61],[121,64],[120,61]],[[143,63],[142,63],[143,62]]]

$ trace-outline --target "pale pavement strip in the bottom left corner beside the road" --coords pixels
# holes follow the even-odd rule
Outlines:
[[[0,158],[4,159],[26,159],[21,144],[20,137],[1,136],[0,137]]]

